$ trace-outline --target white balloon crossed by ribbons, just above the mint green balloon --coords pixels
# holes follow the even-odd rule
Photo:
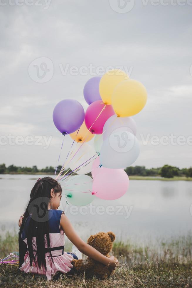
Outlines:
[[[77,143],[69,156],[68,166],[71,170],[75,170],[79,167],[75,170],[75,173],[77,174],[87,174],[91,172],[93,160],[97,157],[95,154],[95,150],[91,145],[87,143]],[[95,157],[93,157],[94,155]]]

